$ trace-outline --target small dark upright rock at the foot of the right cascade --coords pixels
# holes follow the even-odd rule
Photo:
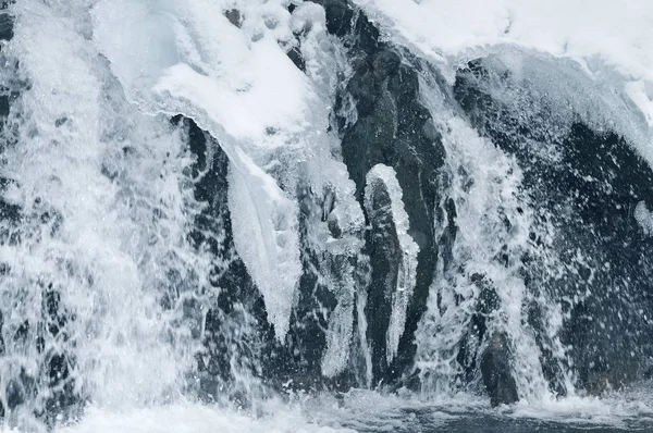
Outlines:
[[[517,384],[513,378],[509,342],[505,333],[495,331],[492,334],[481,355],[480,367],[492,407],[519,400]]]

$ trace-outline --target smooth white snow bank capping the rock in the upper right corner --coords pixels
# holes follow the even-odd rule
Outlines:
[[[578,62],[641,110],[653,144],[653,2],[648,0],[355,0],[427,58],[456,67],[512,46]],[[649,150],[644,149],[644,153]]]

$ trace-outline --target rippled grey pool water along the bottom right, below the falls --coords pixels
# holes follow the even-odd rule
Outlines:
[[[653,399],[645,386],[619,394],[520,401],[491,408],[486,399],[458,395],[442,399],[354,391],[304,401],[320,425],[357,432],[653,432]]]

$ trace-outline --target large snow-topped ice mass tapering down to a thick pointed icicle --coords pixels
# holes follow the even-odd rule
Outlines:
[[[231,8],[242,23],[227,20]],[[230,158],[234,243],[283,339],[301,273],[297,206],[294,190],[261,168],[306,148],[316,99],[282,48],[292,37],[288,12],[274,1],[122,0],[100,1],[93,13],[96,44],[139,108],[193,117]],[[132,38],[145,38],[146,52],[131,50]]]

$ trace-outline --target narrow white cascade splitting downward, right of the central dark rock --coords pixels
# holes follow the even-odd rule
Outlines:
[[[542,375],[540,352],[532,331],[525,326],[527,321],[523,306],[538,302],[546,312],[551,344],[556,357],[564,359],[565,349],[557,333],[562,327],[559,305],[546,294],[532,294],[526,288],[519,257],[525,252],[543,256],[529,240],[533,230],[537,209],[530,208],[529,199],[521,190],[522,173],[514,157],[497,149],[490,140],[465,123],[444,104],[444,95],[434,83],[422,83],[424,104],[436,113],[442,122],[443,144],[447,153],[447,171],[451,173],[451,199],[456,203],[458,239],[452,260],[464,267],[445,270],[440,267],[430,293],[427,316],[420,322],[417,334],[417,364],[424,375],[427,389],[436,395],[455,392],[456,376],[460,366],[456,359],[457,347],[465,333],[472,326],[472,314],[477,311],[482,284],[498,287],[500,308],[492,313],[488,324],[490,332],[506,332],[514,342],[518,360],[515,369],[519,373],[520,397],[529,401],[549,401],[553,398],[546,380]],[[456,173],[460,175],[456,175]],[[446,205],[441,231],[447,230]],[[505,221],[509,221],[506,226]],[[542,232],[540,236],[551,237]],[[507,248],[506,248],[507,245]],[[497,260],[507,251],[504,260]],[[543,257],[553,265],[554,258]],[[484,282],[479,284],[478,275]],[[439,300],[440,299],[440,300]],[[461,299],[461,300],[460,300]],[[574,394],[570,378],[566,378],[569,394]]]

